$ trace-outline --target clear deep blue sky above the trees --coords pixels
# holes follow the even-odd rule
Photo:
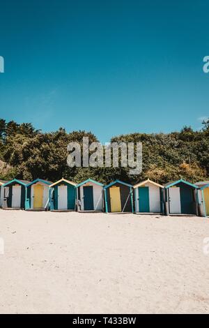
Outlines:
[[[201,128],[209,1],[0,0],[0,117],[113,135]]]

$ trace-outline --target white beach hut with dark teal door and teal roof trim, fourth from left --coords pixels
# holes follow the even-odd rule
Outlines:
[[[92,179],[77,184],[77,210],[103,211],[103,187],[103,184]]]

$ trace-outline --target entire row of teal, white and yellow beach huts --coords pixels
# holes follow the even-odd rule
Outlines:
[[[148,179],[132,186],[116,180],[104,186],[92,179],[80,184],[67,179],[0,180],[0,207],[209,216],[209,181],[191,184],[180,179],[162,186]]]

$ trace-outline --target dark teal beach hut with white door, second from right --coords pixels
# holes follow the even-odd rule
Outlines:
[[[165,214],[198,215],[198,187],[183,179],[169,182],[164,186]]]

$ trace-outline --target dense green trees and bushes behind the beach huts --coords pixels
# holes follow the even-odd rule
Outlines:
[[[203,121],[202,131],[184,127],[173,133],[133,133],[113,137],[111,142],[142,142],[143,171],[129,174],[128,167],[73,167],[67,165],[67,145],[82,138],[98,141],[92,133],[64,128],[52,133],[42,133],[32,124],[17,124],[0,119],[0,179],[36,178],[56,181],[65,177],[75,182],[91,177],[108,183],[121,179],[135,183],[146,178],[164,183],[173,179],[195,182],[209,177],[209,120]]]

